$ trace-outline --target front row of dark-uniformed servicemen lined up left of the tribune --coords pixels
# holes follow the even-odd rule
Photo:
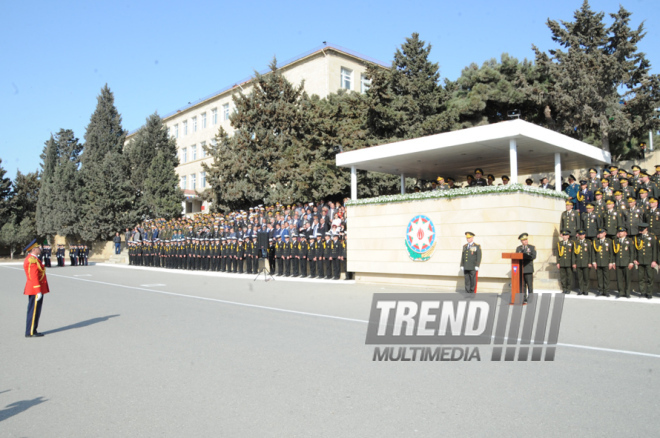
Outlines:
[[[340,278],[346,272],[344,233],[278,234],[260,245],[258,233],[239,237],[187,237],[128,242],[129,264],[168,269],[257,274],[268,259],[270,273],[286,277]],[[263,262],[262,262],[263,263]]]

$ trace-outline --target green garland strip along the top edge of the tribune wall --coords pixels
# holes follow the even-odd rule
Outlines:
[[[365,198],[346,201],[346,205],[371,205],[390,204],[406,201],[424,201],[427,199],[452,199],[465,196],[490,195],[503,193],[525,192],[533,195],[546,196],[548,198],[568,199],[564,192],[542,189],[540,187],[524,186],[522,184],[507,184],[505,186],[468,187],[463,189],[434,190],[430,192],[406,193],[405,195],[386,195],[376,198]]]

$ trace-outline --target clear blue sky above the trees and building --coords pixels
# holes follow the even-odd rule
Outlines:
[[[642,21],[639,49],[660,72],[657,0],[591,0],[607,14],[621,4]],[[390,64],[413,32],[431,44],[441,78],[502,53],[534,59],[555,48],[548,19],[572,21],[582,0],[462,1],[43,1],[0,2],[0,159],[9,178],[39,169],[44,143],[61,128],[84,141],[108,84],[133,131],[323,41]],[[606,22],[610,22],[606,20]]]

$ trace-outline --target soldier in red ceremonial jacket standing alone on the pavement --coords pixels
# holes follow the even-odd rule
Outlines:
[[[41,263],[41,260],[39,260],[41,247],[37,244],[37,239],[34,239],[23,251],[28,253],[28,256],[23,262],[23,269],[27,277],[23,295],[28,296],[25,337],[41,337],[43,334],[37,332],[41,307],[44,303],[44,295],[50,292],[48,289],[48,280],[46,279],[46,269]]]

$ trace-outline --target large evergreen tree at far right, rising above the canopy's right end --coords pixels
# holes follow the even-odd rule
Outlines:
[[[574,14],[575,21],[548,20],[552,39],[561,48],[549,54],[534,47],[536,63],[548,84],[531,83],[529,95],[548,107],[557,129],[575,138],[625,153],[626,144],[649,129],[657,129],[660,105],[657,75],[637,50],[644,25],[629,27],[630,13],[620,7],[610,14],[594,12],[587,0]]]

